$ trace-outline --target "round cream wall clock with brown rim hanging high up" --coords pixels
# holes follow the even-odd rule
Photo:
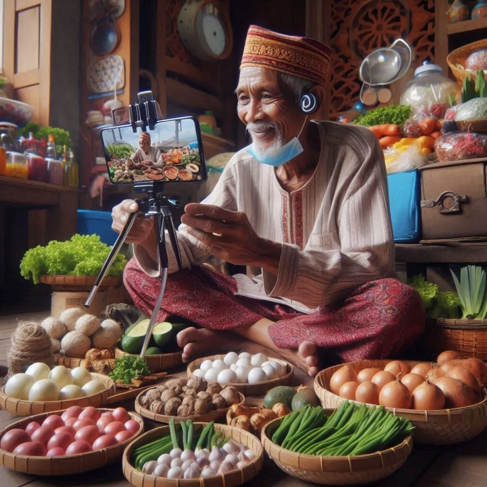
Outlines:
[[[233,47],[230,17],[217,0],[187,0],[177,25],[186,49],[198,59],[216,61],[230,55]]]

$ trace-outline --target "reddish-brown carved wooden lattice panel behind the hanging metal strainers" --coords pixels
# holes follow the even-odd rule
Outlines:
[[[416,50],[413,66],[434,61],[434,0],[332,0],[330,116],[349,110],[358,100],[362,59],[395,39]]]

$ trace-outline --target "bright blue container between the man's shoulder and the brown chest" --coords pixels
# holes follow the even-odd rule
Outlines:
[[[421,174],[417,169],[387,176],[394,242],[421,240]]]

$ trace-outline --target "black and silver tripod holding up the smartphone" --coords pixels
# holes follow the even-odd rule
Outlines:
[[[157,296],[157,300],[154,306],[154,311],[150,317],[149,326],[147,328],[146,337],[144,339],[144,344],[142,345],[142,351],[140,352],[140,357],[144,358],[147,352],[147,347],[149,345],[150,337],[152,336],[152,331],[154,329],[154,325],[157,319],[157,314],[161,309],[162,300],[164,298],[164,292],[166,291],[166,284],[168,280],[168,266],[169,266],[169,258],[168,258],[168,250],[166,248],[166,230],[169,234],[169,240],[171,242],[172,250],[174,255],[176,256],[176,261],[178,263],[179,270],[183,268],[183,263],[181,261],[181,253],[179,251],[179,245],[176,236],[176,229],[174,228],[174,222],[172,221],[172,215],[170,211],[170,207],[178,207],[179,202],[174,200],[169,200],[165,196],[162,195],[162,191],[164,188],[164,183],[160,181],[156,182],[141,182],[136,183],[135,191],[140,193],[147,193],[146,196],[142,198],[142,200],[136,199],[136,203],[139,206],[139,211],[144,213],[143,218],[150,218],[155,217],[155,228],[156,228],[156,237],[157,237],[157,265],[159,268],[159,275],[161,277],[161,290],[159,291],[159,295]],[[110,251],[110,254],[107,257],[107,260],[103,264],[103,267],[96,278],[94,286],[91,290],[88,299],[85,301],[85,308],[89,308],[91,303],[93,302],[94,296],[98,291],[98,287],[100,286],[103,279],[108,273],[115,257],[117,256],[118,252],[122,244],[125,242],[127,235],[129,234],[132,225],[135,222],[135,219],[138,217],[137,213],[131,213],[127,223],[125,224],[123,230],[120,232],[119,236],[115,244]]]

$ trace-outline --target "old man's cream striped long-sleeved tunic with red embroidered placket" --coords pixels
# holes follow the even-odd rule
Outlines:
[[[318,128],[318,165],[299,190],[283,189],[273,167],[241,150],[204,200],[243,211],[260,237],[282,243],[278,275],[263,269],[252,269],[253,278],[236,275],[237,295],[312,313],[365,282],[394,275],[387,177],[375,135],[328,121],[318,122]],[[185,225],[178,240],[185,268],[206,261],[206,245]],[[167,242],[171,273],[177,263]],[[143,247],[134,245],[134,256],[144,272],[158,276]]]

